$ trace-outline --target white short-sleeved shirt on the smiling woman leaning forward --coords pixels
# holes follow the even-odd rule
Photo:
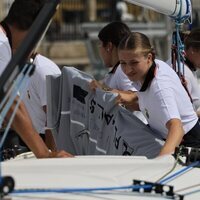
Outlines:
[[[156,73],[150,86],[138,92],[140,110],[146,116],[150,127],[167,137],[166,123],[173,118],[180,119],[184,132],[190,131],[198,118],[189,96],[175,71],[165,62],[155,60]],[[133,83],[139,90],[141,85]]]

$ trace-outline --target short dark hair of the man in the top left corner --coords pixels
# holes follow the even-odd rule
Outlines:
[[[46,0],[15,0],[4,22],[20,30],[28,30]]]

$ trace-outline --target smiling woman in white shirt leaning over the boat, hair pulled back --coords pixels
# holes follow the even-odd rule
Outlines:
[[[200,124],[176,72],[155,59],[148,37],[134,32],[118,47],[124,73],[138,89],[139,109],[149,126],[165,140],[159,155],[180,144],[200,147]]]

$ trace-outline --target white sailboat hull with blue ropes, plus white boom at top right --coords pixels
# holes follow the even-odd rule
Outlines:
[[[191,15],[189,0],[127,1],[181,23]],[[97,146],[94,149],[104,152]],[[1,193],[2,198],[12,200],[195,200],[199,199],[200,192],[199,157],[198,149],[189,148],[177,149],[175,156],[153,159],[144,155],[103,154],[36,159],[31,152],[24,153],[1,162],[1,175],[11,176],[14,180],[12,191],[8,185]]]

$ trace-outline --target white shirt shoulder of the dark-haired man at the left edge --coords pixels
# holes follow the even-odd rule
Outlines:
[[[0,53],[0,75],[1,75],[12,56],[8,38],[6,37],[1,26],[0,26],[0,52],[1,52]]]

